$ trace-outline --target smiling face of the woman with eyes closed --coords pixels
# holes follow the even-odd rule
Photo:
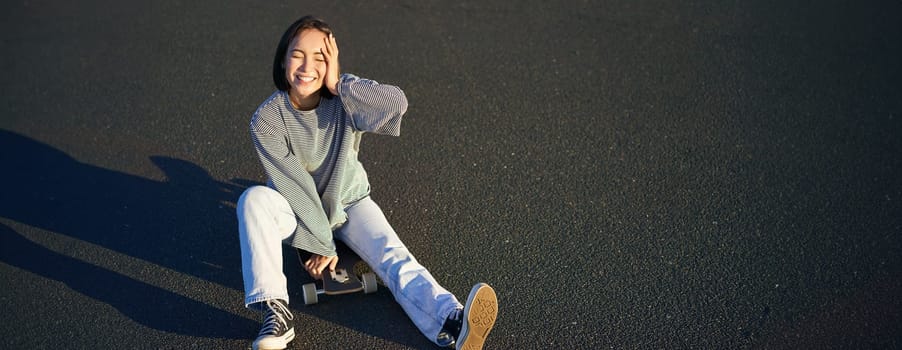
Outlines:
[[[291,104],[295,108],[310,110],[319,104],[326,76],[326,61],[323,59],[326,35],[317,29],[304,29],[288,44],[282,66],[290,86]]]

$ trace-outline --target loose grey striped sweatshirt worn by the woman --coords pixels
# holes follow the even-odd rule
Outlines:
[[[370,192],[357,160],[361,137],[400,135],[407,111],[407,97],[395,86],[343,74],[337,90],[311,111],[297,110],[287,91],[276,91],[250,125],[268,186],[297,218],[291,245],[324,256],[336,254],[332,230],[347,220],[344,208]]]

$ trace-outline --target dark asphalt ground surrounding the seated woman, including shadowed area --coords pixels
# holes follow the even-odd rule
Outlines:
[[[486,348],[902,348],[898,1],[3,7],[2,348],[250,345],[247,125],[307,13],[406,92],[373,198],[496,288]],[[293,349],[431,347],[387,292],[291,288]]]

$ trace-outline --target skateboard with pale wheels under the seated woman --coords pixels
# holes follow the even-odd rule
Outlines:
[[[372,272],[360,256],[354,253],[340,241],[335,242],[338,252],[338,265],[335,271],[323,271],[323,279],[304,284],[304,304],[313,305],[319,302],[320,295],[341,295],[363,292],[375,293],[378,290],[376,274]],[[310,258],[310,253],[297,249],[301,268],[304,261]]]

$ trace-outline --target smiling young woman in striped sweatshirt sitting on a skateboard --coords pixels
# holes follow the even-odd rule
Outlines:
[[[497,317],[495,291],[476,284],[462,305],[420,265],[369,197],[357,160],[361,136],[398,136],[401,89],[340,74],[338,45],[323,21],[303,17],[279,42],[273,93],[250,129],[269,181],[238,200],[245,305],[263,311],[254,349],[294,339],[282,244],[306,250],[314,278],[338,263],[334,239],[366,261],[417,328],[440,346],[480,349]]]

